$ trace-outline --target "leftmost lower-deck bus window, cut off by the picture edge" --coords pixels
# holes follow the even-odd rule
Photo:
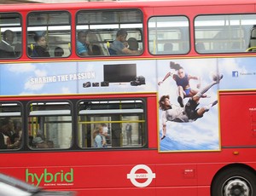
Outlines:
[[[17,149],[22,141],[21,107],[0,103],[0,149]]]

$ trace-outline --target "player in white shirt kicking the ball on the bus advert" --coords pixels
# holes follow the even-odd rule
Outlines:
[[[162,112],[162,137],[163,140],[166,137],[166,122],[172,121],[177,123],[188,123],[193,122],[198,118],[202,118],[205,112],[208,112],[211,107],[215,106],[218,101],[213,101],[207,106],[197,108],[198,102],[200,101],[202,95],[204,95],[208,89],[212,88],[213,85],[218,84],[219,81],[223,78],[223,75],[215,75],[212,78],[212,83],[208,84],[205,88],[201,89],[193,97],[189,98],[189,101],[185,107],[177,107],[170,102],[169,95],[162,95],[159,101],[159,107]]]

